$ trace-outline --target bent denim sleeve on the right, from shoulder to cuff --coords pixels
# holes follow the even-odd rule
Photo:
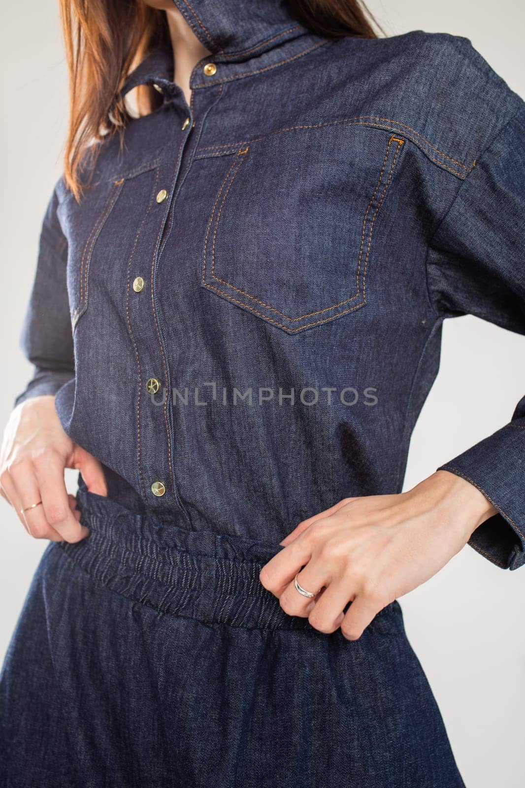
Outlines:
[[[430,296],[441,316],[474,314],[525,334],[525,104],[487,145],[430,241]],[[522,359],[516,362],[523,364]],[[489,370],[490,374],[490,370]],[[509,422],[440,466],[498,514],[469,544],[498,566],[525,563],[525,396]]]

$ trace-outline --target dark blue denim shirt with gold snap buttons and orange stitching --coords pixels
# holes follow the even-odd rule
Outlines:
[[[121,95],[160,105],[98,143],[80,205],[54,184],[15,401],[56,394],[133,511],[280,541],[401,491],[445,318],[525,333],[524,103],[463,37],[175,2],[211,55],[188,106],[151,51]],[[498,511],[470,544],[525,563],[525,397],[441,467]]]

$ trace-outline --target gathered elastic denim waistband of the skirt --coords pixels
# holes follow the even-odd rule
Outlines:
[[[138,514],[79,489],[90,535],[58,542],[70,559],[107,588],[157,611],[205,623],[258,629],[306,629],[307,618],[282,610],[259,572],[282,545],[213,530],[187,530]],[[380,614],[397,606],[383,608]]]

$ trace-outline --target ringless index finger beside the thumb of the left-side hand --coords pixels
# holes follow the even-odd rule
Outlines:
[[[80,525],[69,505],[60,455],[48,455],[45,462],[36,464],[35,469],[43,511],[50,526],[58,531],[62,541],[77,542],[87,537],[89,530]]]

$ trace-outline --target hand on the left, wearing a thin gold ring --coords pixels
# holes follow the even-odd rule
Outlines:
[[[75,497],[65,488],[65,468],[80,470],[90,492],[107,495],[102,465],[66,435],[54,396],[37,396],[17,405],[2,440],[0,493],[36,539],[76,542],[89,533],[80,525]]]

